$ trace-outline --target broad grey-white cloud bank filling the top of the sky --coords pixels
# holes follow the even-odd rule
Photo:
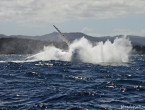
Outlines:
[[[145,14],[144,0],[0,0],[0,22],[24,25]]]

